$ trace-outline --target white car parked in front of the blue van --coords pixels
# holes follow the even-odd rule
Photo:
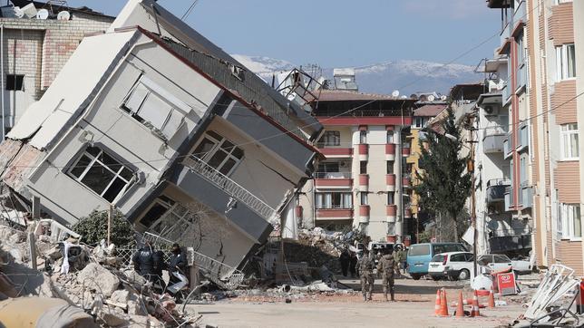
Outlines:
[[[428,265],[428,275],[433,280],[443,278],[469,279],[472,273],[472,257],[472,253],[469,252],[448,252],[435,255]]]

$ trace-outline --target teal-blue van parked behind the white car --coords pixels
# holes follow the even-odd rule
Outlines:
[[[423,243],[410,246],[407,252],[407,272],[414,280],[428,275],[433,256],[447,252],[468,252],[461,243]]]

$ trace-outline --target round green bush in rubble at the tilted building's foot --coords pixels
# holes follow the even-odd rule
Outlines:
[[[88,217],[83,217],[73,226],[73,231],[80,234],[83,242],[89,245],[99,244],[102,239],[107,241],[108,211],[92,211]],[[118,210],[113,213],[110,238],[118,247],[136,244],[133,227]]]

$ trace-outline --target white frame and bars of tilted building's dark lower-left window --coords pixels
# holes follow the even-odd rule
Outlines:
[[[89,152],[88,150],[90,148],[94,148],[94,149],[99,150],[97,155],[93,155],[91,152]],[[114,171],[107,164],[103,163],[102,160],[99,159],[100,156],[102,156],[102,154],[105,154],[106,156],[110,157],[112,160],[115,160],[116,161],[115,165],[119,165],[120,169],[118,169],[117,171]],[[73,173],[73,170],[78,169],[80,167],[79,162],[83,159],[83,157],[89,158],[90,162],[85,166],[85,168],[79,174],[79,176],[76,176],[75,173]],[[110,182],[108,182],[107,186],[105,186],[105,188],[103,188],[101,193],[98,193],[97,191],[93,190],[90,186],[88,186],[85,182],[83,182],[83,178],[85,178],[87,176],[88,172],[93,168],[93,166],[96,163],[99,164],[100,167],[102,167],[102,169],[106,169],[110,174],[113,175],[112,179],[110,180]],[[127,169],[128,171],[131,172],[132,177],[130,179],[124,178],[121,175],[122,170],[124,170],[124,169]],[[91,190],[93,194],[99,196],[100,198],[102,198],[103,200],[107,201],[110,204],[117,203],[117,201],[119,201],[123,197],[123,195],[126,193],[126,191],[128,191],[128,189],[131,188],[131,186],[134,184],[135,176],[136,176],[135,169],[131,169],[129,166],[124,165],[122,160],[118,159],[115,155],[111,155],[109,151],[103,150],[103,148],[99,147],[99,146],[88,146],[83,151],[81,151],[79,154],[77,154],[77,158],[75,160],[73,160],[73,163],[68,167],[66,172],[67,172],[67,176],[69,176],[69,178],[73,178],[74,181],[76,181],[77,183],[82,185],[84,188]],[[123,182],[125,182],[124,187],[122,189],[120,189],[120,191],[116,194],[116,196],[114,198],[112,198],[112,200],[108,200],[107,198],[104,198],[103,196],[109,191],[110,188],[112,188],[113,182],[117,178],[120,178],[120,179],[122,179]]]

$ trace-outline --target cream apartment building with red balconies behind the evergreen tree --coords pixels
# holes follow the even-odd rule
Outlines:
[[[316,147],[325,155],[314,179],[297,196],[305,227],[359,228],[374,241],[409,242],[411,186],[405,171],[415,100],[323,90],[313,114],[325,132]]]

